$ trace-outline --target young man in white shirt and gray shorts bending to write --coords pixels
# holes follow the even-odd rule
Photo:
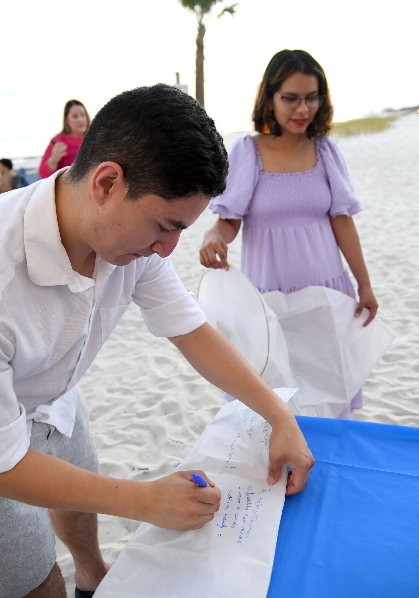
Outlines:
[[[287,463],[287,493],[303,490],[314,460],[291,411],[205,323],[166,259],[226,172],[214,122],[159,84],[110,100],[68,170],[2,197],[0,598],[65,596],[54,531],[74,557],[76,596],[92,596],[110,567],[96,513],[187,530],[218,510],[218,489],[203,501],[190,472],[143,483],[98,472],[76,385],[132,300],[153,334],[271,423],[268,483]]]

